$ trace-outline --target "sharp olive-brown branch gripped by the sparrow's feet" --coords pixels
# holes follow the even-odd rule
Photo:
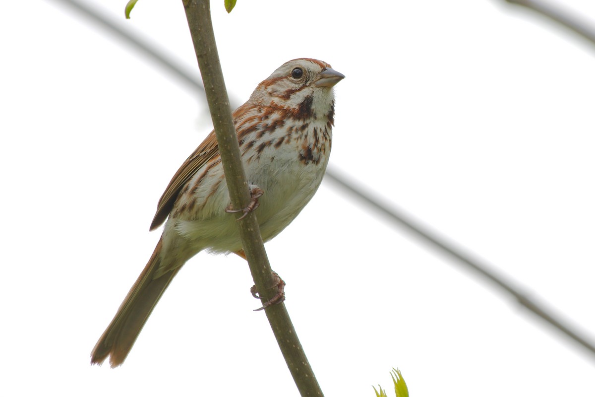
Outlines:
[[[217,135],[231,205],[233,208],[245,208],[250,202],[249,187],[215,44],[209,0],[183,0],[183,4]],[[238,221],[238,226],[250,273],[264,302],[273,298],[277,291],[270,288],[274,284],[273,274],[256,221],[257,214],[258,210],[249,213]],[[268,307],[265,314],[300,395],[322,396],[322,390],[297,339],[285,305]]]

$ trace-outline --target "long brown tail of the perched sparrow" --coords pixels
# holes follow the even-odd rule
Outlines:
[[[104,335],[99,338],[93,348],[91,364],[101,364],[109,356],[109,364],[114,368],[126,360],[140,330],[161,298],[161,294],[181,268],[177,267],[154,278],[155,272],[159,268],[160,252],[161,239],[159,239],[145,269],[140,273],[136,283],[120,305],[114,320],[111,321]]]

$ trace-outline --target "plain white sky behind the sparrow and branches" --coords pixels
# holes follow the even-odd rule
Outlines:
[[[181,1],[90,1],[198,74]],[[565,0],[595,23],[595,2]],[[336,86],[331,166],[595,330],[595,48],[496,0],[212,3],[236,103],[312,57]],[[89,354],[151,255],[156,202],[209,132],[201,98],[60,1],[0,12],[7,396],[297,396],[248,267],[201,253],[127,361]],[[267,244],[327,396],[592,396],[594,355],[323,183]]]

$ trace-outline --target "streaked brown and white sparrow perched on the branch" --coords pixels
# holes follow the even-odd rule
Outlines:
[[[289,61],[260,83],[233,112],[243,165],[252,192],[264,192],[256,217],[262,239],[285,229],[318,189],[331,150],[333,86],[343,74],[326,62]],[[184,161],[159,199],[151,230],[165,222],[161,239],[99,338],[91,362],[108,356],[122,364],[161,294],[182,265],[207,249],[243,256],[221,158],[211,132]]]

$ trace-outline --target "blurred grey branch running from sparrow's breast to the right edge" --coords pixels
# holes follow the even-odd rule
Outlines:
[[[430,243],[434,248],[439,249],[439,251],[465,265],[466,268],[469,268],[483,276],[485,279],[490,280],[490,282],[511,294],[519,304],[534,314],[537,314],[539,317],[543,318],[543,320],[546,320],[552,326],[580,343],[580,345],[583,345],[585,349],[595,354],[595,345],[593,345],[593,343],[578,335],[578,332],[566,325],[566,321],[556,318],[556,316],[552,314],[552,311],[547,309],[545,305],[537,303],[529,298],[527,294],[519,289],[519,287],[513,286],[513,283],[505,280],[503,276],[499,276],[494,270],[490,270],[491,266],[486,262],[482,262],[478,258],[473,258],[469,254],[465,254],[462,249],[456,248],[453,243],[447,242],[446,239],[440,237],[438,233],[432,232],[428,227],[424,227],[418,220],[406,215],[405,212],[394,208],[389,210],[388,206],[381,204],[378,199],[372,198],[372,196],[366,193],[362,193],[365,192],[365,189],[362,189],[362,187],[357,186],[355,183],[349,182],[346,177],[339,176],[339,174],[330,170],[327,170],[326,176],[325,180],[331,180],[341,189],[346,190],[350,195],[364,202],[368,207],[374,208],[374,210],[384,215],[383,218],[385,220],[388,219],[391,223],[404,227],[414,235],[421,237],[425,242]]]

